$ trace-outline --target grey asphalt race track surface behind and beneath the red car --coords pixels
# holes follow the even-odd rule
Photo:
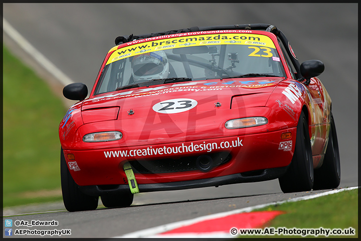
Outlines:
[[[358,185],[357,4],[4,4],[3,8],[4,18],[21,35],[74,82],[86,83],[89,89],[117,36],[193,26],[275,25],[300,62],[319,59],[325,64],[319,78],[332,98],[340,187]],[[17,51],[17,55],[29,62],[25,53]],[[128,208],[43,213],[26,219],[57,220],[58,229],[72,228],[71,237],[112,237],[310,193],[315,192],[283,194],[278,180],[272,180],[141,193]]]

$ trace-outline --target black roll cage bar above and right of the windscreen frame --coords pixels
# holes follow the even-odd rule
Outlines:
[[[286,36],[276,26],[270,24],[241,24],[241,25],[226,25],[226,26],[212,26],[212,27],[191,27],[188,29],[170,30],[159,33],[151,33],[151,34],[144,34],[137,36],[131,34],[128,37],[126,36],[117,37],[115,39],[115,44],[119,45],[133,40],[146,39],[146,38],[171,35],[171,34],[200,32],[200,31],[215,31],[215,30],[260,30],[260,31],[273,33],[274,35],[276,35],[276,37],[278,37],[281,40],[283,47],[289,59],[291,60],[293,67],[295,68],[296,71],[295,75],[297,77],[297,80],[298,81],[304,80],[304,77],[302,77],[300,73],[300,64],[298,62],[298,59],[294,56],[294,54],[291,53],[290,44]]]

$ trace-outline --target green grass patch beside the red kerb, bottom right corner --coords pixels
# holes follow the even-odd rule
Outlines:
[[[315,199],[298,202],[287,202],[280,205],[268,206],[260,210],[281,210],[284,214],[278,215],[264,227],[286,228],[349,228],[355,229],[352,236],[328,237],[358,237],[358,190],[343,191]],[[240,237],[302,237],[291,235],[253,235]],[[314,237],[308,235],[306,237]],[[325,237],[325,236],[318,236]]]

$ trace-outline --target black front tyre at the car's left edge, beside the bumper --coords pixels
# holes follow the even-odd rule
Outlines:
[[[99,197],[88,196],[79,190],[78,184],[75,183],[70,175],[63,148],[60,153],[60,174],[63,201],[65,208],[69,212],[94,210],[98,207]]]

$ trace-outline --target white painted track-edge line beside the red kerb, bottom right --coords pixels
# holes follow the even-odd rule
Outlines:
[[[160,237],[160,235],[157,235],[157,234],[165,232],[165,231],[169,231],[169,230],[172,230],[172,229],[175,229],[175,228],[191,225],[191,224],[194,224],[194,223],[197,223],[197,222],[210,220],[210,219],[215,219],[215,218],[221,218],[221,217],[225,217],[225,216],[229,216],[229,215],[236,214],[236,213],[241,213],[241,212],[251,212],[251,211],[253,211],[255,209],[264,208],[264,207],[275,205],[275,204],[282,204],[282,203],[286,203],[286,202],[297,202],[297,201],[301,201],[301,200],[313,199],[313,198],[326,196],[326,195],[334,194],[334,193],[337,193],[337,192],[352,190],[352,189],[356,189],[356,188],[358,188],[358,187],[341,188],[341,189],[332,190],[332,191],[323,192],[323,193],[318,193],[318,194],[314,194],[314,195],[309,195],[309,196],[304,196],[304,197],[296,197],[296,198],[292,198],[292,199],[285,200],[285,201],[270,202],[270,203],[260,204],[260,205],[256,205],[256,206],[252,206],[252,207],[245,207],[245,208],[236,209],[236,210],[232,210],[232,211],[215,213],[215,214],[206,215],[206,216],[202,216],[202,217],[197,217],[197,218],[193,218],[193,219],[189,219],[189,220],[173,222],[173,223],[169,223],[169,224],[160,225],[160,226],[157,226],[157,227],[151,227],[151,228],[147,228],[147,229],[127,233],[127,234],[124,234],[124,235],[115,236],[115,238],[118,238],[118,237]],[[231,234],[230,235],[227,235],[227,234],[224,235],[224,234],[221,234],[219,232],[214,233],[214,234],[215,234],[215,236],[213,236],[212,233],[208,233],[208,234],[204,233],[204,234],[201,234],[201,235],[199,235],[199,234],[192,235],[190,233],[186,233],[186,234],[177,235],[177,237],[181,237],[181,236],[182,237],[230,237],[230,236],[232,236]],[[168,235],[162,235],[162,237],[170,237],[170,236],[173,236],[173,235],[169,235],[169,236]],[[173,237],[175,237],[175,236],[173,236]]]

